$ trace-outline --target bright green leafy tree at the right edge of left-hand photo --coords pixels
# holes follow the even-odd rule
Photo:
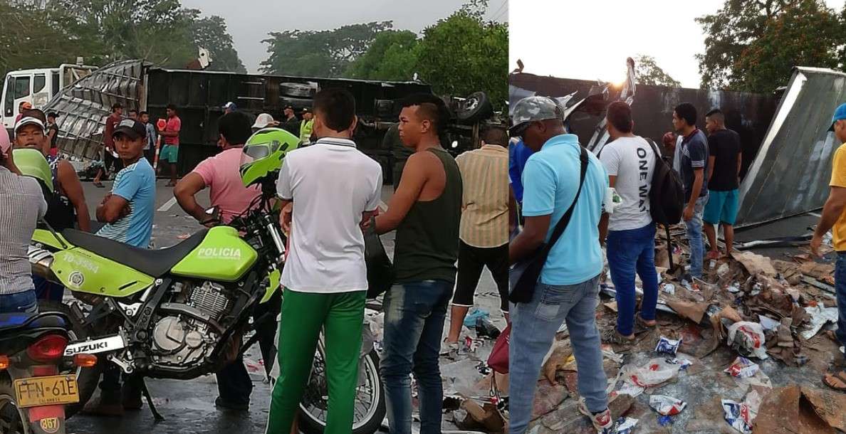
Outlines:
[[[495,107],[508,99],[508,25],[486,22],[486,0],[472,0],[423,30],[420,78],[441,95],[486,91]]]

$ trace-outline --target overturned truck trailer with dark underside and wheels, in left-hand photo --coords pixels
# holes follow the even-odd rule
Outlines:
[[[162,69],[140,60],[125,60],[97,69],[54,96],[44,110],[59,113],[58,147],[82,160],[99,159],[105,120],[113,103],[150,113],[151,122],[165,118],[165,107],[174,104],[182,119],[179,133],[179,173],[188,173],[199,162],[219,151],[217,118],[222,106],[234,102],[239,111],[270,113],[281,120],[283,108],[299,113],[311,107],[316,91],[328,87],[349,90],[356,99],[360,149],[382,164],[384,179],[391,179],[391,150],[382,143],[385,130],[397,122],[398,100],[416,92],[431,93],[420,81],[376,81],[235,74],[194,69]],[[481,92],[479,92],[481,94]],[[476,95],[476,94],[474,94]],[[486,98],[486,96],[482,95]],[[474,146],[478,122],[490,118],[491,102],[478,96],[456,102],[466,108],[460,122],[448,126],[452,151]],[[484,119],[482,119],[484,118]]]

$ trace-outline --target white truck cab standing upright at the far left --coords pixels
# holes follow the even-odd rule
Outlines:
[[[65,86],[91,74],[96,66],[63,63],[58,68],[20,69],[6,74],[3,81],[3,96],[0,110],[3,110],[3,127],[14,128],[21,102],[30,102],[32,107],[41,108],[56,96]]]

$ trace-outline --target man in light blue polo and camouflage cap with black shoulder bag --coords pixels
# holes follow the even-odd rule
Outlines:
[[[561,107],[545,96],[530,96],[516,104],[510,133],[535,151],[523,172],[525,226],[508,246],[508,261],[513,264],[550,238],[573,203],[579,189],[581,147],[576,135],[566,134]],[[552,247],[530,302],[511,305],[508,430],[512,434],[522,434],[530,422],[541,363],[564,321],[579,368],[579,394],[584,399],[580,411],[602,434],[611,432],[613,425],[595,317],[602,272],[598,225],[608,176],[602,162],[588,154],[573,216]]]

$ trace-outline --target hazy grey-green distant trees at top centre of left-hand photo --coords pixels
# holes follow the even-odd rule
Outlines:
[[[344,25],[334,30],[274,31],[262,41],[270,56],[261,62],[266,74],[338,77],[363,55],[391,21]]]

